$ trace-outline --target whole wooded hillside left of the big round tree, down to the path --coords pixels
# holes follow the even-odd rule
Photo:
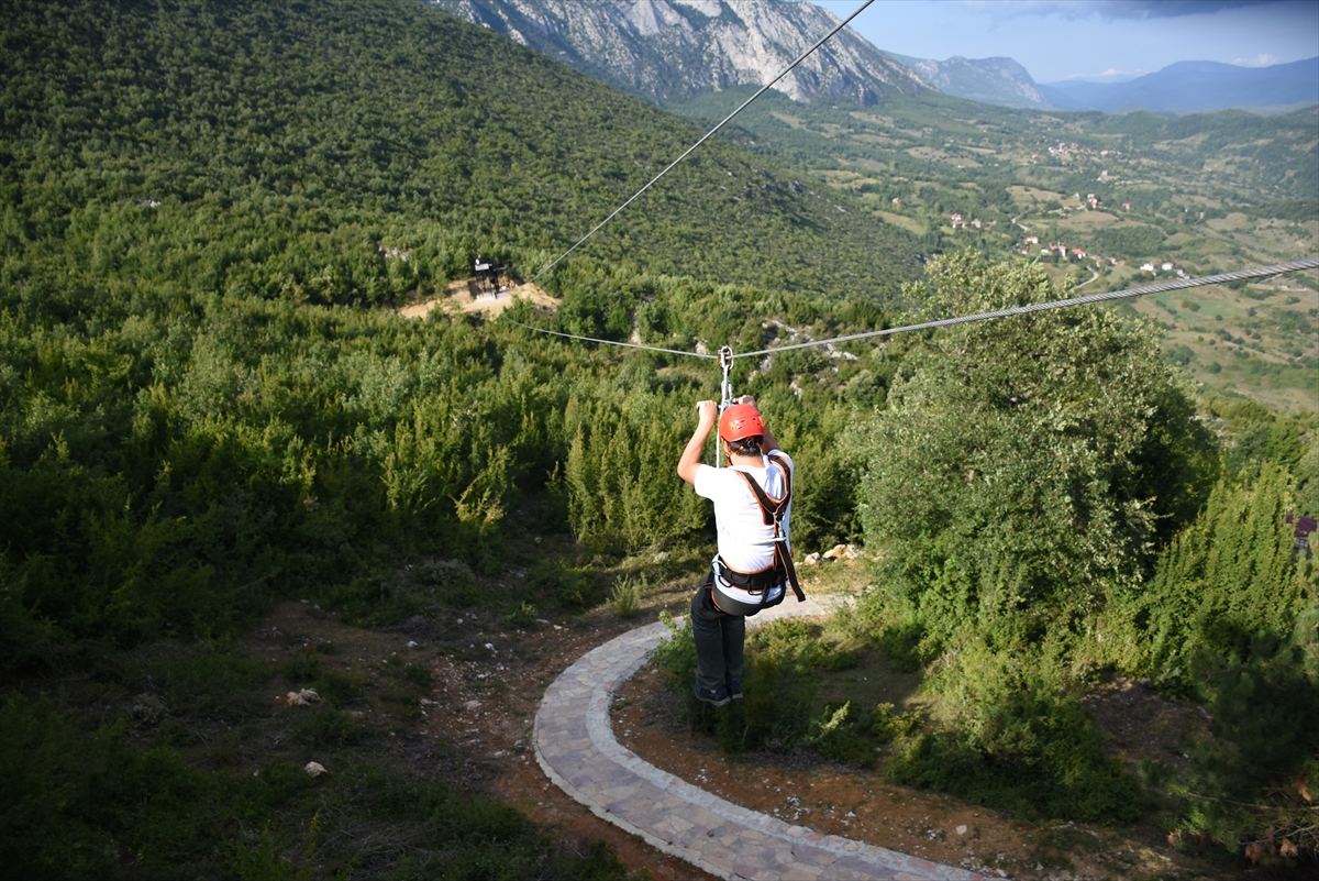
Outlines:
[[[551,837],[525,786],[496,798],[525,715],[496,739],[427,714],[620,626],[591,615],[624,555],[669,546],[624,570],[653,584],[708,561],[670,458],[716,376],[384,306],[477,252],[529,274],[695,129],[412,0],[0,16],[0,861],[627,877],[579,810],[538,814]],[[691,349],[882,320],[910,237],[710,148],[555,270],[557,326]],[[820,475],[813,543],[855,526],[820,426],[882,394],[839,361],[756,388]],[[541,621],[496,669],[481,646]]]

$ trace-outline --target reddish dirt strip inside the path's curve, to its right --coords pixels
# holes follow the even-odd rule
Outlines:
[[[1125,703],[1124,703],[1125,702]],[[1096,695],[1092,711],[1121,732],[1133,760],[1171,757],[1195,725],[1194,711],[1134,683]],[[1190,715],[1188,715],[1190,714]],[[620,688],[613,711],[619,740],[646,761],[744,807],[813,830],[877,844],[989,876],[1049,880],[1235,878],[1236,868],[1206,866],[1159,831],[1097,826],[1037,827],[956,798],[885,782],[873,772],[799,753],[725,758],[712,737],[691,733],[682,702],[644,667]],[[1184,761],[1181,753],[1175,758]]]

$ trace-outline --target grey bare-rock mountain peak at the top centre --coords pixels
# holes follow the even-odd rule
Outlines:
[[[765,0],[430,0],[653,103],[769,82],[839,18],[810,3]],[[929,86],[844,30],[774,87],[798,102]]]

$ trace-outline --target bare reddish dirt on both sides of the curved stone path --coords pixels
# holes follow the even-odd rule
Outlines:
[[[417,772],[510,803],[570,847],[601,839],[633,870],[649,869],[656,878],[706,878],[571,801],[545,777],[532,748],[536,710],[559,673],[591,648],[654,620],[661,608],[681,615],[687,597],[687,586],[666,584],[627,621],[600,608],[521,629],[488,613],[446,609],[392,630],[365,630],[313,605],[285,603],[244,638],[244,649],[278,662],[332,644],[334,652],[319,655],[322,669],[359,678],[398,658],[423,662],[434,677],[427,696],[404,707],[381,700],[368,684],[347,707],[396,732],[390,737],[397,740],[389,743]],[[297,684],[290,681],[289,687]],[[282,691],[273,699],[278,714],[301,710],[285,708]],[[1130,762],[1146,757],[1184,762],[1181,744],[1203,729],[1194,707],[1165,700],[1134,682],[1111,683],[1089,706],[1113,754]],[[620,690],[613,714],[615,732],[629,749],[721,798],[929,860],[991,876],[1058,881],[1246,877],[1240,866],[1204,864],[1178,852],[1155,828],[1115,831],[1071,823],[1042,828],[951,797],[893,786],[873,772],[807,753],[729,761],[712,739],[691,733],[681,700],[658,686],[649,667]]]

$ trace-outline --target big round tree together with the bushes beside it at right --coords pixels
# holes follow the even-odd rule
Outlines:
[[[1030,270],[972,265],[933,273],[936,309],[1049,295]],[[1215,405],[1220,458],[1155,338],[1100,313],[934,343],[859,442],[867,538],[886,551],[863,616],[896,662],[929,665],[948,715],[900,737],[888,773],[1033,819],[1132,820],[1140,787],[1076,699],[1109,666],[1213,715],[1220,746],[1175,783],[1149,778],[1170,826],[1229,847],[1274,835],[1231,805],[1299,816],[1274,794],[1319,748],[1319,593],[1282,522],[1298,423]]]

